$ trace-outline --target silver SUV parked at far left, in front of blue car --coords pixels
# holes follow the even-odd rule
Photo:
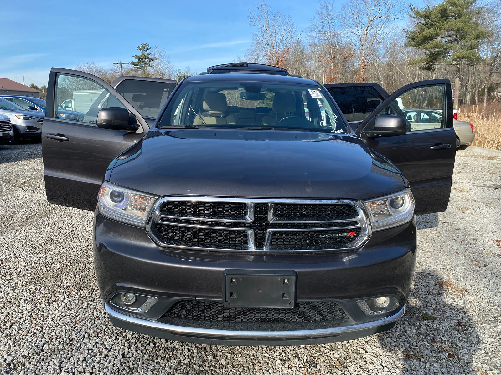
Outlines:
[[[14,132],[12,142],[20,139],[39,140],[45,114],[38,110],[26,110],[22,106],[0,97],[0,114],[10,118]]]

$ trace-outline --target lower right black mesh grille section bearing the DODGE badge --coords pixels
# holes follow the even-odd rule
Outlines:
[[[346,247],[358,237],[360,228],[277,231],[270,250],[317,250]]]

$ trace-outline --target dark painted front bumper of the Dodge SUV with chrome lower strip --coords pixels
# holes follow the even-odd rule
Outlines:
[[[349,252],[265,255],[181,252],[156,245],[145,229],[125,225],[96,211],[94,263],[105,309],[122,328],[172,340],[211,344],[310,344],[354,339],[390,329],[404,313],[416,257],[416,224],[374,232],[364,246]],[[319,329],[207,328],[196,322],[174,325],[163,319],[177,300],[222,300],[225,270],[294,271],[296,300],[336,300],[349,319]],[[158,297],[156,309],[133,313],[110,303],[117,292]],[[357,299],[393,295],[400,307],[365,315]],[[283,325],[282,325],[283,326]],[[238,327],[238,326],[237,326]],[[263,328],[265,327],[265,328]],[[263,329],[261,329],[263,328]],[[289,330],[290,329],[290,330]]]

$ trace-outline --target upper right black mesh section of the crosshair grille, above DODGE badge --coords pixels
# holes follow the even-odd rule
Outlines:
[[[351,204],[275,204],[275,218],[282,221],[346,220],[357,217]]]

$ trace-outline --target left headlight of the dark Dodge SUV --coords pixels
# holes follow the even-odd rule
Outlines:
[[[145,226],[156,198],[158,196],[104,182],[99,190],[99,211],[126,224]]]

